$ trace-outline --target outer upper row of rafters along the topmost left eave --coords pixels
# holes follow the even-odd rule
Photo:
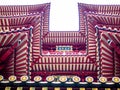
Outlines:
[[[0,12],[41,12],[40,10],[49,9],[48,7],[50,7],[50,3],[36,5],[0,5]]]

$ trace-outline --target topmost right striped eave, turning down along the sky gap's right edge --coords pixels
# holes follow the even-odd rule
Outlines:
[[[120,15],[120,5],[94,5],[94,4],[84,4],[78,3],[79,9],[79,23],[81,33],[86,33],[86,13],[94,13],[101,15]],[[102,20],[102,19],[101,19]],[[117,20],[117,19],[116,19]],[[117,20],[119,21],[119,20]]]

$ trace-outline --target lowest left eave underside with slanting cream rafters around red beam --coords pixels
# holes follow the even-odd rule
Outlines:
[[[18,78],[28,73],[28,32],[13,32],[13,33],[0,33],[0,52],[10,49],[15,43],[18,46],[13,50],[10,57],[7,57],[6,66],[3,73],[6,76],[16,75]],[[2,54],[1,54],[2,55]]]

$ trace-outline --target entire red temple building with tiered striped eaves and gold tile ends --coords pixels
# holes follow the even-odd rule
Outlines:
[[[79,31],[49,31],[50,3],[0,6],[0,88],[119,90],[120,5],[78,3]]]

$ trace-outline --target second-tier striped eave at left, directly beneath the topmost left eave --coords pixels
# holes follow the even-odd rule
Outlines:
[[[20,27],[28,27],[34,25],[41,19],[41,13],[27,14],[19,16],[1,16],[0,17],[0,31],[11,31],[10,29],[16,29]]]

